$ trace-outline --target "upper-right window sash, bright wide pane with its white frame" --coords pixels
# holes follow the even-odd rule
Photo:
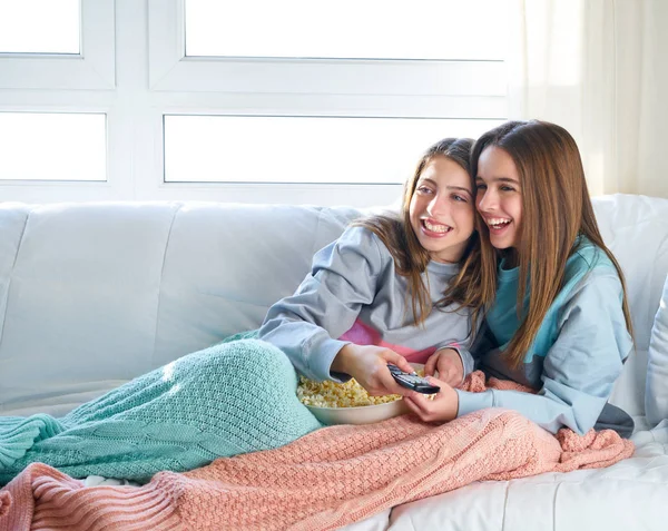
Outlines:
[[[504,96],[503,7],[149,0],[149,83],[159,91]],[[340,9],[354,28],[330,23]],[[481,10],[488,22],[477,17]]]

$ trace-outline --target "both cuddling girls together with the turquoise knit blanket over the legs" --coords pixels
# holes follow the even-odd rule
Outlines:
[[[465,139],[430,148],[399,216],[361,220],[317,253],[297,292],[269,309],[266,342],[185,356],[62,420],[0,417],[0,484],[36,461],[145,481],[297,439],[318,424],[281,350],[307,376],[401,393],[424,421],[504,406],[552,432],[628,435],[630,417],[607,404],[632,346],[623,281],[574,141],[551,124],[509,122],[470,149]],[[538,393],[456,390],[474,358]],[[391,377],[387,364],[410,371],[406,360],[438,371],[433,402]]]

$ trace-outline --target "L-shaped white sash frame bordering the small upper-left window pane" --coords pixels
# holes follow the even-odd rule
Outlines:
[[[114,12],[114,0],[81,0],[80,53],[0,53],[0,88],[115,88]]]

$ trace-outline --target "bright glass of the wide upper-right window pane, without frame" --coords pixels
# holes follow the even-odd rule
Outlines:
[[[480,13],[484,12],[484,17]],[[503,60],[502,1],[186,0],[186,56]]]

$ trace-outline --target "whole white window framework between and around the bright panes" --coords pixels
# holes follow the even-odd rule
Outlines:
[[[163,116],[472,119],[504,119],[508,116],[505,72],[499,61],[405,62],[403,67],[409,69],[426,67],[424,71],[440,72],[438,75],[444,77],[440,85],[443,91],[432,94],[438,90],[420,89],[414,83],[415,94],[397,94],[396,87],[386,86],[386,80],[372,86],[364,78],[375,76],[370,75],[367,68],[389,72],[393,65],[396,67],[403,61],[364,61],[361,69],[361,63],[355,61],[322,60],[313,63],[313,68],[324,71],[331,67],[332,72],[340,72],[350,67],[348,73],[357,72],[358,83],[346,86],[352,82],[346,80],[327,88],[328,91],[324,85],[313,85],[310,88],[313,92],[305,94],[298,79],[293,80],[291,87],[286,80],[262,78],[261,70],[271,62],[273,68],[268,71],[274,77],[278,67],[286,67],[285,71],[296,76],[311,68],[308,61],[184,57],[181,50],[185,47],[180,45],[185,31],[180,14],[183,0],[81,1],[82,56],[0,56],[0,110],[105,112],[108,179],[105,183],[0,181],[0,196],[4,200],[191,199],[383,205],[396,199],[401,185],[165,183]],[[23,61],[23,66],[16,61]],[[471,73],[475,76],[475,82],[459,79],[473,67],[488,73]],[[79,73],[75,71],[77,69]],[[395,73],[401,71],[395,70]],[[449,71],[452,76],[446,76]],[[232,72],[238,73],[238,79],[220,81],[224,75],[229,77]],[[405,70],[403,72],[405,75]],[[454,72],[459,73],[455,76]],[[414,75],[406,77],[413,80]],[[452,79],[448,79],[450,77]],[[273,91],[268,91],[268,85],[259,89],[253,85],[259,82],[258,79],[271,81]],[[411,83],[411,80],[406,82]],[[33,88],[38,90],[26,90]],[[240,88],[247,90],[237,91]],[[469,89],[472,90],[464,94]]]

